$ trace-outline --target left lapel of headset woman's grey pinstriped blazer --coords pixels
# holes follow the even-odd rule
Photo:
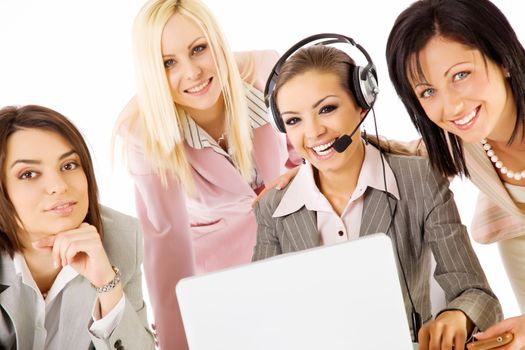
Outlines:
[[[321,243],[317,230],[316,213],[302,207],[295,213],[283,217],[284,235],[291,244],[291,249],[283,247],[283,253],[318,247]],[[286,251],[284,251],[286,250]]]

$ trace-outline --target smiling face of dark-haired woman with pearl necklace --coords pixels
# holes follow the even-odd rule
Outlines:
[[[509,139],[516,104],[503,67],[441,36],[430,39],[418,59],[422,74],[409,74],[411,85],[436,125],[468,143]]]

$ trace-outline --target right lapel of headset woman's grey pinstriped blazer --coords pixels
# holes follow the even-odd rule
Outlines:
[[[387,197],[390,201],[392,212],[395,213],[397,207],[397,200],[395,198],[390,194],[385,195],[383,191],[371,187],[367,189],[363,203],[363,214],[361,216],[360,237],[378,232],[388,234],[393,215],[390,212]]]

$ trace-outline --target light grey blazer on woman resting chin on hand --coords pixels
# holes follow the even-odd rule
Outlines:
[[[89,327],[96,293],[88,280],[78,275],[62,291],[58,334],[60,349],[153,349],[146,306],[142,299],[142,234],[137,220],[109,208],[101,209],[103,244],[112,265],[121,270],[126,298],[121,322],[109,339],[96,338]],[[0,256],[0,348],[33,349],[35,338],[45,330],[35,325],[37,298],[15,274],[13,260]]]

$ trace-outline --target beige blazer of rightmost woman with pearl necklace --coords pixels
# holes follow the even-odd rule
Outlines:
[[[525,234],[525,210],[520,210],[501,182],[481,144],[463,144],[472,182],[480,189],[472,220],[472,237],[492,243]]]

